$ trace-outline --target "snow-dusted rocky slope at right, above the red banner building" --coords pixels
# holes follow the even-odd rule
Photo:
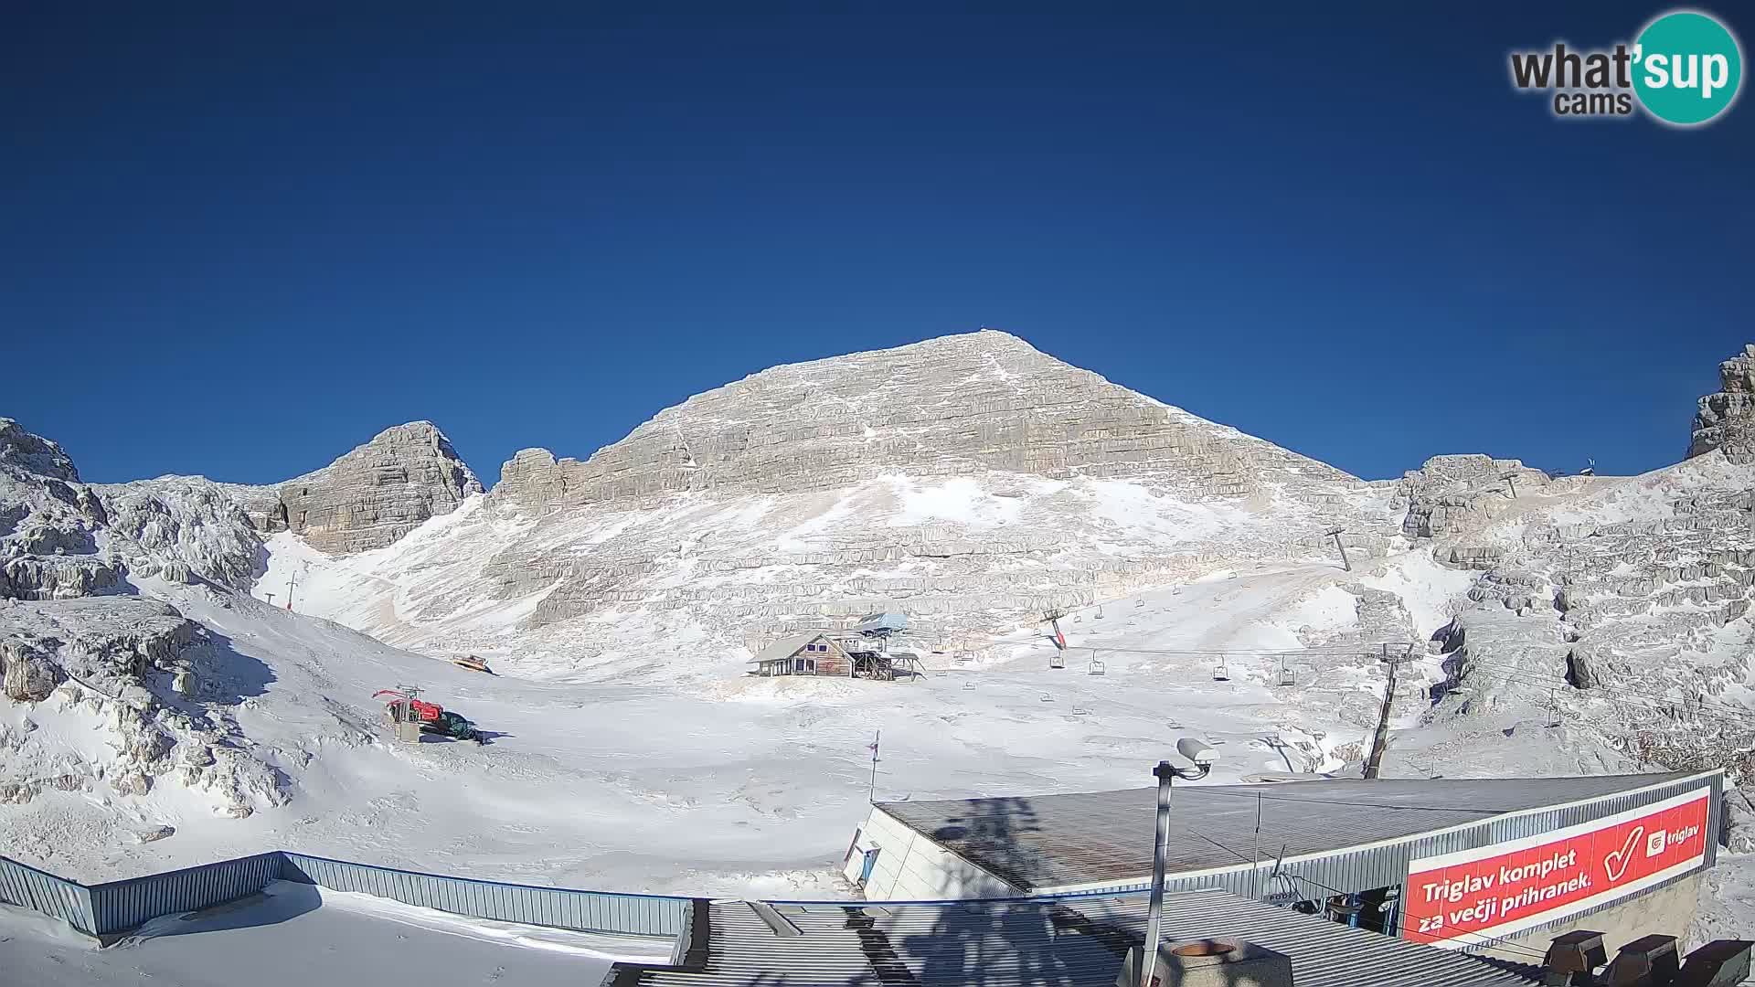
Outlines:
[[[1432,715],[1486,738],[1581,727],[1630,764],[1755,782],[1736,699],[1755,641],[1751,522],[1755,472],[1702,457],[1590,478],[1476,529],[1490,557],[1443,636]]]

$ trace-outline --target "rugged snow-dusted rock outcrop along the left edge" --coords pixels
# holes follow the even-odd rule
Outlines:
[[[23,731],[0,725],[0,803],[104,785],[146,796],[176,773],[211,794],[221,815],[284,804],[281,776],[239,743],[235,724],[165,706],[172,692],[184,701],[223,695],[204,694],[197,673],[197,662],[223,667],[223,645],[170,604],[126,595],[123,581],[132,573],[242,590],[261,551],[218,485],[161,478],[88,486],[60,446],[0,420],[0,695],[25,704],[60,697],[60,713],[82,713],[107,734],[97,748],[105,753],[93,753],[40,739],[30,718]]]

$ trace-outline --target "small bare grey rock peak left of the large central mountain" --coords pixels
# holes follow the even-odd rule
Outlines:
[[[235,488],[233,488],[235,490]],[[328,553],[383,548],[448,515],[481,481],[432,421],[384,429],[330,465],[239,497],[261,530],[291,530]]]

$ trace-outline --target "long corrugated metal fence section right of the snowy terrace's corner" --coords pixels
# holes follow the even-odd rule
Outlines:
[[[307,854],[281,854],[281,878],[330,890],[376,894],[455,915],[581,933],[677,936],[686,927],[690,913],[688,897],[481,882],[349,864]]]

